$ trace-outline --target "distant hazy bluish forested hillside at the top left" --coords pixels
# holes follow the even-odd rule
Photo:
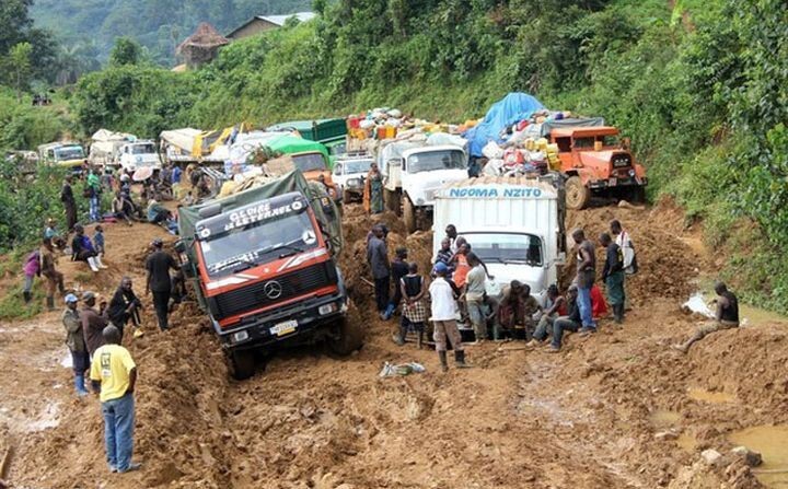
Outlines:
[[[115,38],[125,36],[143,46],[152,61],[172,66],[175,48],[200,22],[227,34],[254,15],[311,7],[311,0],[35,0],[31,16],[81,62],[105,62]]]

